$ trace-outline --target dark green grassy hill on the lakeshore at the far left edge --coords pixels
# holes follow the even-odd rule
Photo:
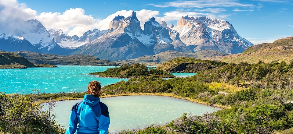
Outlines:
[[[0,68],[25,68],[25,67],[36,67],[34,64],[29,62],[24,57],[10,53],[0,52]]]

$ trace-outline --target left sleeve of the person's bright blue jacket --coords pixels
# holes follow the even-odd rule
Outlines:
[[[78,119],[74,110],[74,106],[71,109],[71,113],[69,116],[68,128],[66,130],[66,134],[74,134],[77,129]]]

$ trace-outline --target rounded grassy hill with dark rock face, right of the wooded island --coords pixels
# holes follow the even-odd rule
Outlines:
[[[179,57],[161,64],[157,69],[162,69],[166,72],[199,72],[201,70],[212,69],[225,64],[226,63],[224,62]]]

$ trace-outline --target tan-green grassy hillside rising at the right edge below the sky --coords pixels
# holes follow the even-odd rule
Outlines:
[[[271,63],[274,61],[293,61],[293,37],[248,47],[241,54],[224,56],[221,61],[228,63],[257,63],[260,60]]]

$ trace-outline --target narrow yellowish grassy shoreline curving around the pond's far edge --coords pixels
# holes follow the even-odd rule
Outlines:
[[[191,99],[188,97],[180,97],[178,95],[172,94],[172,93],[118,93],[118,94],[111,94],[111,95],[102,95],[100,96],[100,98],[106,98],[106,97],[118,97],[118,96],[134,96],[134,95],[154,95],[154,96],[166,96],[166,97],[174,97],[177,99],[183,99],[183,100],[187,100],[187,101],[191,101],[194,103],[198,103],[198,104],[203,104],[203,105],[207,105],[207,106],[211,106],[211,107],[217,107],[217,108],[230,108],[228,106],[224,106],[224,105],[219,105],[219,104],[210,104],[207,102],[202,102],[196,99]],[[83,99],[82,98],[75,98],[75,97],[62,97],[62,98],[52,98],[52,101],[67,101],[67,100],[79,100],[79,99]],[[42,104],[42,103],[48,103],[49,100],[40,100],[40,101],[36,101],[36,104]]]

